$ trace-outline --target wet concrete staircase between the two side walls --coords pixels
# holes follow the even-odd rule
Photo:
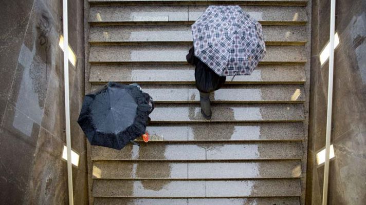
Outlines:
[[[212,4],[259,20],[267,54],[212,94],[206,122],[185,56],[190,25]],[[156,102],[147,144],[88,147],[90,204],[304,204],[309,9],[305,0],[85,1],[86,92],[139,83]]]

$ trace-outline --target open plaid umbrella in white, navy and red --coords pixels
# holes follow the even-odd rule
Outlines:
[[[220,76],[250,75],[266,53],[261,24],[240,6],[209,6],[192,33],[195,56]]]

